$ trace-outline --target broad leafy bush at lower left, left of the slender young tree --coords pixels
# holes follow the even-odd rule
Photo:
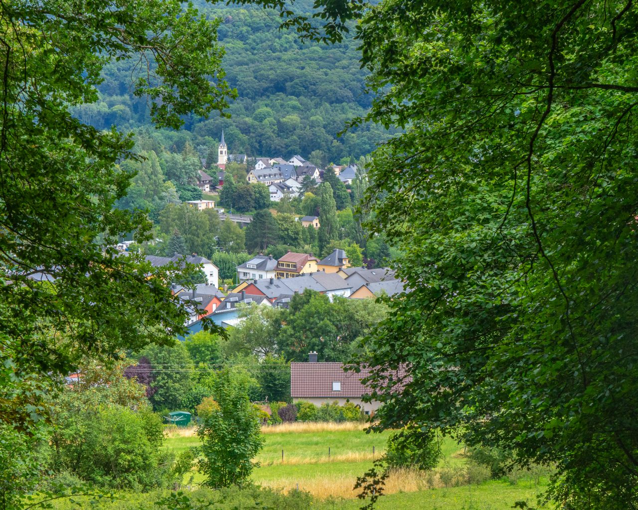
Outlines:
[[[148,489],[170,483],[172,456],[162,453],[161,421],[145,388],[124,365],[87,363],[80,379],[52,401],[53,432],[42,470],[68,473],[107,488]]]

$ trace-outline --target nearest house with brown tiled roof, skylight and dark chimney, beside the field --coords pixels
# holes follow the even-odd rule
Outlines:
[[[363,402],[362,397],[371,393],[361,380],[370,375],[369,368],[361,367],[360,372],[345,372],[343,363],[317,361],[317,353],[309,353],[308,362],[290,363],[290,396],[292,402],[311,402],[317,406],[338,402],[343,405],[352,402],[364,411],[373,414],[381,402]],[[396,391],[401,391],[405,374],[393,374]]]

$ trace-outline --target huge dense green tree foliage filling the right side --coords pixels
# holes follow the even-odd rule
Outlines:
[[[636,498],[635,27],[626,2],[412,1],[358,29],[369,119],[406,130],[367,164],[413,289],[369,344],[413,367],[383,424],[555,463],[580,509]]]

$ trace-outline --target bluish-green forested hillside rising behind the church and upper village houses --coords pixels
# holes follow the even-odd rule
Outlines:
[[[357,43],[352,37],[336,45],[302,43],[295,33],[279,31],[274,11],[224,6],[197,1],[209,18],[219,20],[219,41],[226,48],[226,80],[237,89],[230,119],[185,118],[177,133],[150,129],[144,98],[133,96],[132,80],[143,76],[140,61],[110,62],[99,86],[100,100],[73,109],[83,122],[98,129],[112,124],[148,131],[165,148],[180,152],[189,140],[205,157],[225,129],[228,149],[249,156],[308,156],[322,152],[323,163],[368,154],[389,136],[379,126],[366,125],[338,137],[338,131],[371,105],[364,92],[366,71],[360,69]],[[295,4],[297,6],[297,4]],[[309,1],[298,8],[308,11]]]

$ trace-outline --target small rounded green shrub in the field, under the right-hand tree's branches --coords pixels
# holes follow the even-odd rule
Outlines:
[[[434,430],[407,426],[388,437],[385,460],[389,467],[414,467],[427,470],[436,466],[441,449]]]

